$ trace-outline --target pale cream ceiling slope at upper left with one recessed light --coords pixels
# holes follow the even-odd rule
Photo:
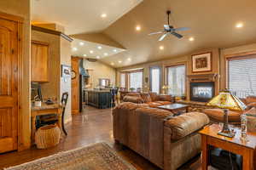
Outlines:
[[[102,31],[142,0],[32,0],[32,21],[65,26],[69,34]],[[102,14],[106,17],[102,18]]]

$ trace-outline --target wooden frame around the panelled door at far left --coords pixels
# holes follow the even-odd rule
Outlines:
[[[22,124],[22,116],[20,115],[21,113],[21,108],[22,106],[21,104],[21,90],[22,90],[22,84],[23,84],[23,23],[24,23],[24,18],[20,17],[20,16],[16,16],[13,14],[5,14],[3,12],[0,12],[0,18],[3,20],[10,20],[10,21],[14,21],[17,24],[17,57],[18,57],[18,75],[17,75],[17,82],[18,82],[18,89],[17,89],[17,93],[18,93],[18,100],[17,100],[17,107],[18,107],[18,126],[17,126],[17,132],[18,132],[18,136],[17,136],[17,140],[18,140],[18,150],[24,150],[24,145],[22,143],[22,128],[23,128],[23,124]]]

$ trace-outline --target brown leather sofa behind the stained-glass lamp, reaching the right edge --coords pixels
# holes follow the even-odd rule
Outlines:
[[[247,105],[247,110],[251,109],[253,106],[256,106],[256,96],[247,96],[247,98],[242,99],[242,101],[245,105]],[[206,109],[203,112],[209,116],[211,122],[224,122],[224,110],[222,109]],[[240,116],[243,112],[244,111],[228,111],[230,124],[240,124]]]

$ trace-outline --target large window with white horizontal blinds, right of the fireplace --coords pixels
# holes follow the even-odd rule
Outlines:
[[[228,61],[228,86],[239,98],[256,95],[256,56]]]

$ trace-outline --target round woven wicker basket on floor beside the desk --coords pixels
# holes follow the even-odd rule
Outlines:
[[[35,142],[38,149],[46,149],[59,144],[61,130],[57,125],[46,125],[40,127],[35,134]]]

